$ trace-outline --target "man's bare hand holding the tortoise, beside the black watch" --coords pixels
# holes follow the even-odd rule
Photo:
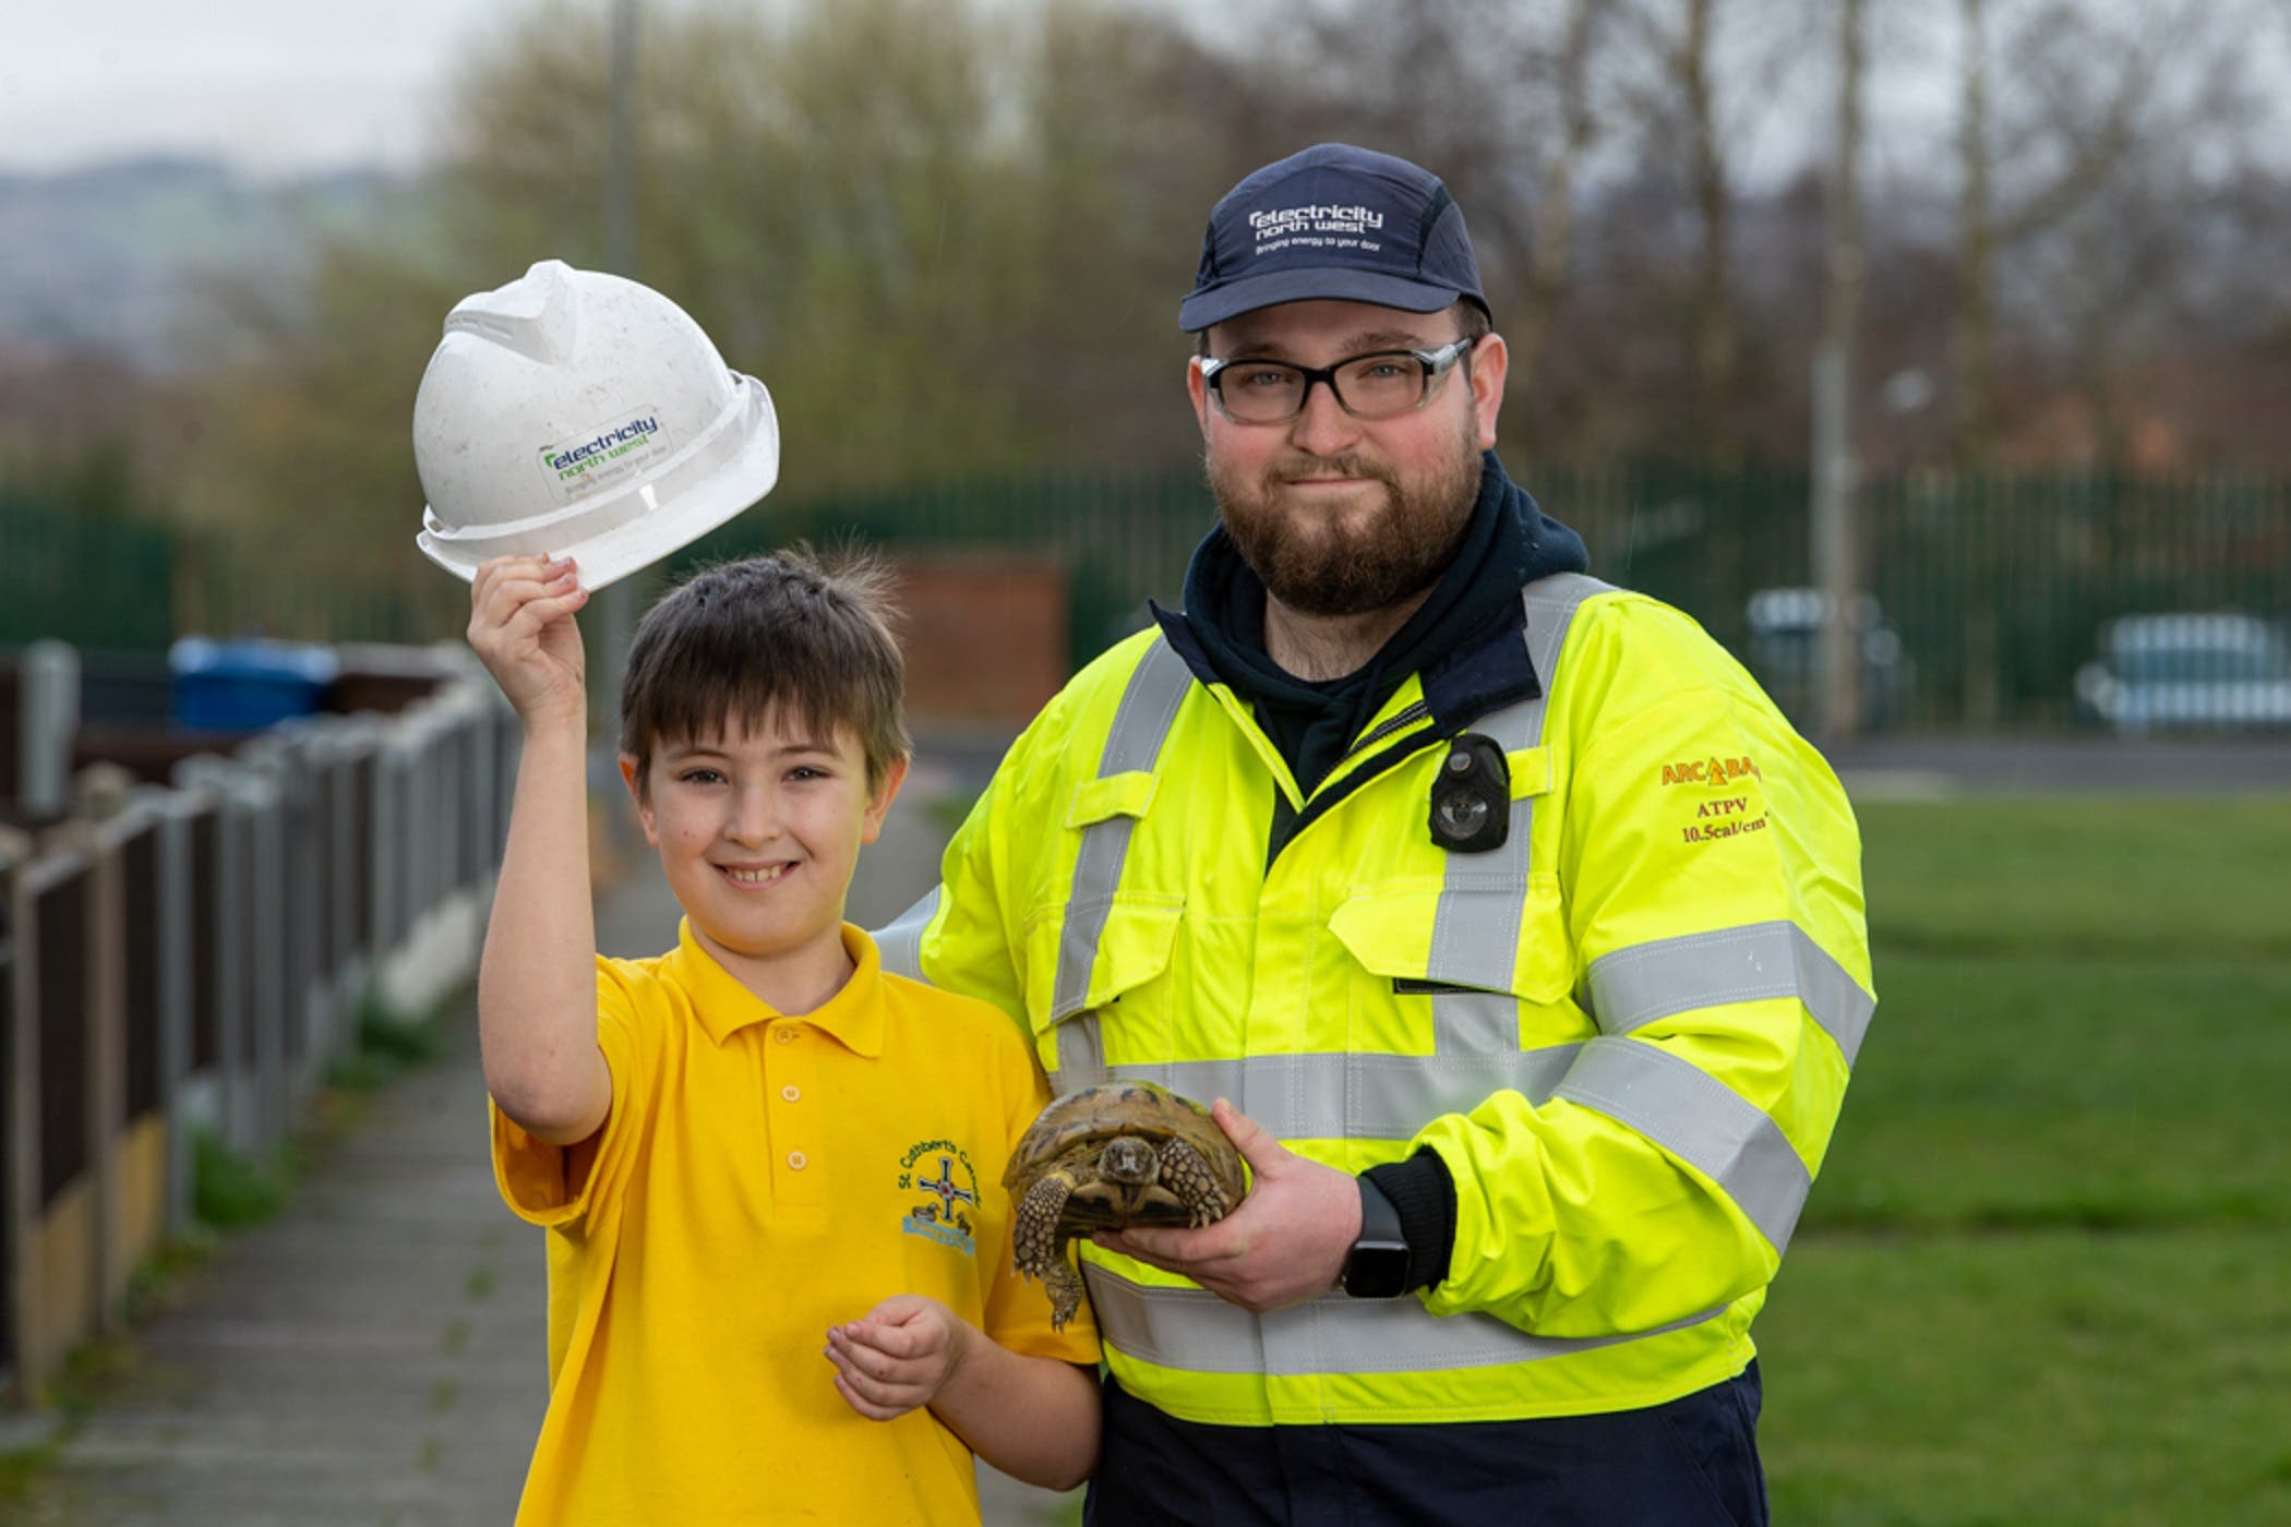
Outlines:
[[[1182,1273],[1255,1314],[1333,1289],[1361,1234],[1361,1186],[1297,1156],[1226,1099],[1210,1115],[1255,1177],[1242,1206],[1200,1229],[1102,1229],[1097,1245]]]

